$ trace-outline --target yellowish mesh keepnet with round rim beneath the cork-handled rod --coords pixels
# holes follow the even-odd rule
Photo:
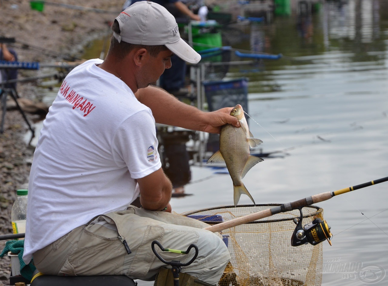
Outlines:
[[[208,224],[266,210],[279,204],[206,208],[183,215]],[[293,210],[222,231],[231,259],[219,286],[314,286],[322,281],[322,243],[291,246],[291,236],[300,216]],[[323,209],[303,208],[303,225],[319,217]]]

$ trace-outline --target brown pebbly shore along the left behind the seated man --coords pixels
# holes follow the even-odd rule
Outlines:
[[[32,10],[29,1],[2,0],[0,37],[15,38],[16,42],[9,43],[8,47],[17,52],[19,61],[54,63],[71,60],[71,57],[79,59],[88,42],[106,35],[109,22],[121,11],[124,2],[54,0],[45,3],[40,12]],[[54,68],[19,70],[19,78],[55,71]],[[17,83],[17,92],[21,98],[35,103],[42,100],[36,81]],[[29,121],[36,121],[39,115],[27,113],[27,117]],[[28,187],[34,147],[23,139],[27,131],[21,113],[8,110],[4,133],[0,134],[0,235],[12,233],[10,217],[16,190]],[[4,245],[5,241],[0,241],[0,250]],[[0,258],[0,286],[9,285],[10,268],[9,258]]]

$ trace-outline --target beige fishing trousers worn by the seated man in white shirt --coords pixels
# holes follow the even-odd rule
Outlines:
[[[182,215],[130,206],[95,217],[35,252],[33,259],[43,274],[126,275],[151,281],[161,267],[167,267],[152,252],[152,241],[176,250],[187,250],[194,243],[199,249],[198,257],[182,267],[182,272],[217,284],[230,254],[221,236],[204,230],[206,226]],[[167,261],[186,263],[194,256],[194,249],[187,255],[162,252],[157,245],[155,249]]]

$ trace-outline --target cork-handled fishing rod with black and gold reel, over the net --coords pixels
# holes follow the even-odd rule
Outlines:
[[[320,193],[307,198],[303,198],[301,200],[297,200],[290,203],[284,203],[276,207],[268,208],[266,210],[261,210],[260,212],[255,212],[253,214],[237,217],[236,219],[232,219],[230,221],[214,224],[213,226],[208,226],[208,227],[205,227],[204,229],[215,233],[231,227],[239,226],[241,224],[253,222],[258,219],[270,217],[272,215],[279,214],[281,212],[299,210],[300,211],[299,219],[298,218],[294,219],[294,223],[297,224],[297,226],[294,230],[293,236],[291,237],[291,245],[299,246],[306,243],[317,245],[318,243],[324,240],[327,240],[331,245],[330,239],[333,235],[330,233],[330,227],[327,225],[327,222],[325,220],[322,221],[321,219],[317,218],[317,219],[314,219],[314,221],[302,227],[302,217],[303,217],[302,208],[312,205],[313,203],[319,203],[319,202],[329,200],[333,198],[333,196],[342,195],[354,190],[359,190],[359,189],[369,187],[375,184],[383,183],[386,181],[388,181],[388,177],[384,177],[381,179],[377,179],[374,181],[370,181],[367,183],[359,184],[356,186],[344,188],[333,192]]]

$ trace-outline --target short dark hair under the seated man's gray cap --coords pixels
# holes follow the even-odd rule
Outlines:
[[[112,24],[112,31],[120,35],[120,26],[116,19]],[[168,50],[165,45],[147,46],[130,44],[124,41],[121,41],[119,43],[119,41],[116,40],[116,38],[114,38],[114,36],[112,35],[109,51],[114,52],[119,59],[123,59],[126,55],[128,55],[129,52],[131,52],[135,48],[145,48],[152,57],[157,57],[160,52]]]

